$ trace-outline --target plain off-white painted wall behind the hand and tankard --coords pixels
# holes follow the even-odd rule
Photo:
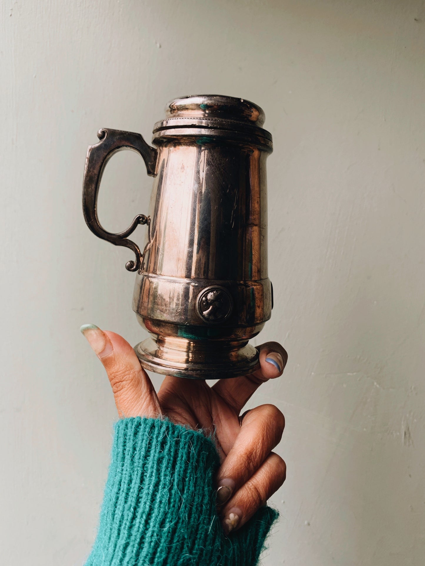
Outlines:
[[[252,405],[286,415],[288,479],[263,564],[422,565],[424,2],[10,0],[0,26],[1,563],[83,563],[115,407],[79,327],[143,335],[131,254],[84,224],[86,147],[101,126],[149,140],[168,100],[213,92],[274,136],[259,338],[289,363]],[[114,157],[103,224],[150,186]]]

